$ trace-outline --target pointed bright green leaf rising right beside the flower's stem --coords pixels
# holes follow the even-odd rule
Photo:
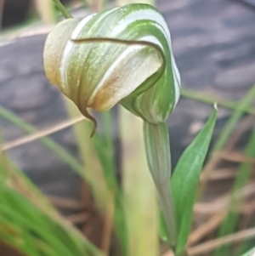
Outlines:
[[[216,118],[217,110],[215,109],[204,128],[180,157],[170,181],[170,189],[173,193],[178,218],[177,254],[184,251],[190,234],[195,192]]]

